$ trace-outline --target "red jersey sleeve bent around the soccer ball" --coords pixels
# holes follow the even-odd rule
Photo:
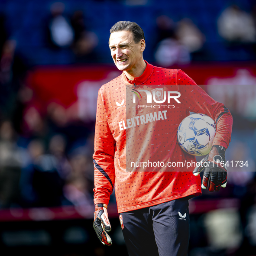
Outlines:
[[[203,113],[215,120],[216,133],[213,145],[224,146],[230,143],[233,118],[224,104],[211,98],[185,72],[178,70],[177,85],[181,93],[181,103],[188,111]]]

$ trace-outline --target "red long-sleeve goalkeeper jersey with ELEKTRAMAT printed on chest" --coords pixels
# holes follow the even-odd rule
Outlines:
[[[183,71],[146,64],[141,76],[129,81],[123,72],[98,93],[94,203],[108,204],[115,188],[119,213],[201,194],[194,165],[182,166],[195,157],[177,141],[190,111],[216,121],[213,145],[230,142],[232,116],[223,104]]]

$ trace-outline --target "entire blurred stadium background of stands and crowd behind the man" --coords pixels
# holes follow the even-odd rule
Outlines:
[[[256,3],[253,0],[0,0],[2,255],[127,255],[92,227],[97,91],[120,74],[108,49],[138,23],[144,59],[180,68],[233,115],[227,188],[190,201],[189,256],[256,255]]]

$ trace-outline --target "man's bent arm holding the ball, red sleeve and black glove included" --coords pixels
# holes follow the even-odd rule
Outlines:
[[[201,167],[194,169],[194,175],[204,171],[202,188],[209,186],[209,191],[219,191],[220,186],[227,184],[227,169],[223,163],[225,151],[231,139],[233,118],[224,104],[211,98],[187,74],[179,70],[177,74],[178,89],[181,93],[181,103],[194,113],[203,113],[215,120],[216,133],[210,153],[201,161]],[[208,167],[203,166],[207,162]],[[221,164],[222,162],[222,164]]]

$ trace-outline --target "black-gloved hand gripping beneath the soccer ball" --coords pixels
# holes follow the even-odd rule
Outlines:
[[[225,188],[227,185],[227,169],[225,166],[225,151],[223,146],[214,145],[210,153],[201,160],[199,167],[193,171],[195,176],[204,171],[201,187],[206,189],[209,185],[209,191],[220,191],[220,186]]]

